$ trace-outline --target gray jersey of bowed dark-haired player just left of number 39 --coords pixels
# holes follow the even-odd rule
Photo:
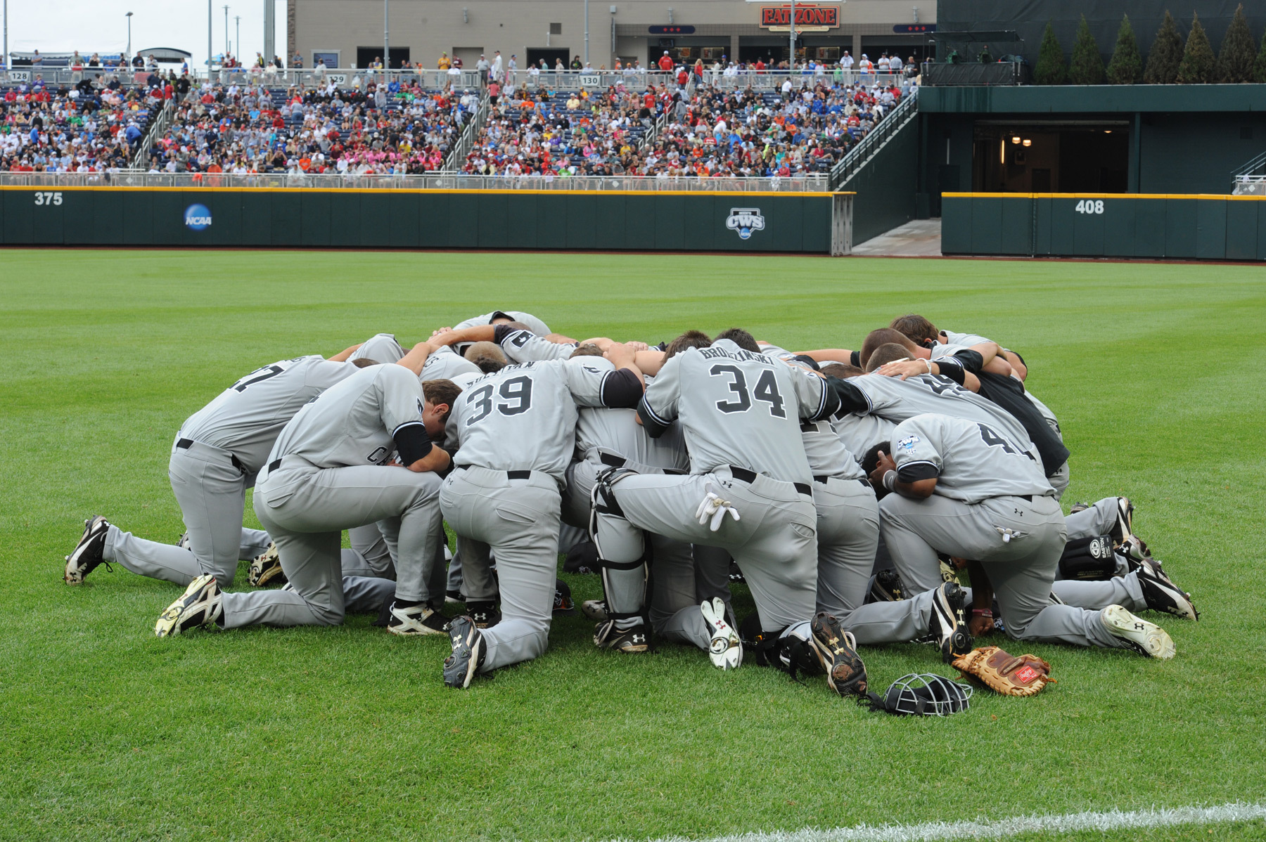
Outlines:
[[[395,363],[360,368],[305,406],[277,436],[268,460],[300,456],[318,468],[381,465],[395,432],[423,426],[422,381]]]

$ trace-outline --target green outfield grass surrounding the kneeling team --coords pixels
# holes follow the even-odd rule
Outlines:
[[[0,296],[3,838],[704,838],[1266,798],[1266,269],[4,250]],[[787,348],[856,348],[917,311],[1004,341],[1072,450],[1065,508],[1129,494],[1203,619],[1152,617],[1167,662],[1025,646],[1057,685],[931,721],[684,647],[599,652],[581,616],[544,657],[454,692],[444,637],[367,616],[156,640],[173,585],[119,568],[62,584],[91,515],[175,541],[172,437],[243,373],[498,307],[575,336],[737,325]],[[947,669],[914,645],[862,656],[880,686]]]

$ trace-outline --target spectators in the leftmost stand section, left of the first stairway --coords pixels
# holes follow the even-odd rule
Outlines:
[[[118,78],[73,87],[32,83],[0,88],[0,171],[103,172],[132,166],[170,80],[123,87]]]

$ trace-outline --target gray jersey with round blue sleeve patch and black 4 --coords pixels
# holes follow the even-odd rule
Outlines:
[[[937,479],[936,493],[962,503],[989,497],[1053,497],[1042,463],[980,421],[924,413],[893,430],[893,461],[903,482]]]

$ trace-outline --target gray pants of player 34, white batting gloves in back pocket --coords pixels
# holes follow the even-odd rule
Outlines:
[[[741,520],[725,516],[718,531],[694,517],[708,491],[728,499]],[[624,563],[638,558],[638,530],[682,544],[706,544],[734,556],[756,601],[765,631],[780,631],[813,617],[817,595],[817,512],[813,499],[791,483],[757,474],[736,479],[728,468],[710,474],[625,475],[613,492],[623,517],[598,518],[604,558]],[[610,549],[608,549],[610,547]],[[610,558],[620,555],[625,558]],[[698,609],[679,612],[674,633],[706,649],[709,635]]]

